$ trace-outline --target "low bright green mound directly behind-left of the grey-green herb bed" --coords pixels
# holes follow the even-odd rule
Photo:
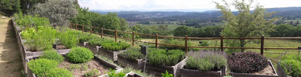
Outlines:
[[[105,43],[102,44],[102,48],[105,50],[109,50],[109,51],[121,51],[121,50],[126,50],[126,48],[131,47],[130,44],[127,44],[125,42],[113,42],[113,43]]]

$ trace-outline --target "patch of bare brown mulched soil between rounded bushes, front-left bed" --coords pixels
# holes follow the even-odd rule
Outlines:
[[[75,77],[85,77],[85,73],[89,70],[96,69],[99,72],[99,76],[106,74],[109,68],[102,65],[99,61],[92,59],[86,63],[72,63],[64,59],[64,61],[59,65],[59,68],[65,68],[72,72]]]

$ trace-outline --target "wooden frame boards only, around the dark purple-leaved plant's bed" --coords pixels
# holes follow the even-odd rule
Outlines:
[[[273,73],[274,75],[260,75],[260,74],[249,74],[249,73],[233,73],[231,72],[230,70],[230,76],[233,76],[233,77],[278,77],[276,71],[275,71],[275,68],[272,64],[272,62],[269,60],[270,62],[270,67],[272,67],[273,69]]]

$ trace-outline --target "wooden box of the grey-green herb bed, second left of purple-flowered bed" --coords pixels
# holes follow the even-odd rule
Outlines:
[[[117,63],[127,67],[128,65],[132,66],[134,69],[143,69],[143,64],[144,64],[144,58],[142,59],[132,59],[132,58],[127,58],[125,56],[122,56],[120,54],[117,55],[118,61]]]

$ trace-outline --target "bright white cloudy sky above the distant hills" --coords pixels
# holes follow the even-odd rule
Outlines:
[[[162,9],[214,9],[212,1],[222,0],[78,0],[81,7],[90,10],[162,10]],[[226,0],[232,2],[233,0]],[[246,0],[248,1],[248,0]],[[301,7],[301,0],[254,0],[265,8]],[[234,10],[234,8],[233,8]]]

